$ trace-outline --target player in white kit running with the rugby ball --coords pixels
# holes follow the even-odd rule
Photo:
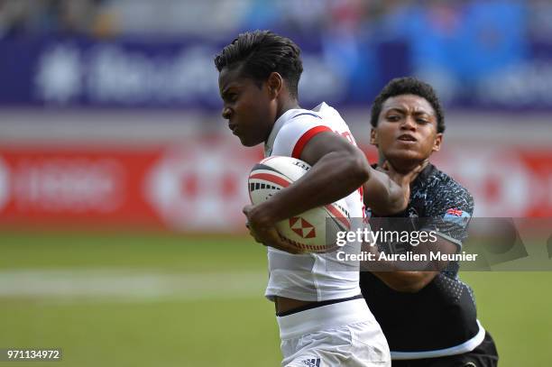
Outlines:
[[[373,170],[349,128],[330,106],[299,107],[299,47],[269,31],[240,34],[215,58],[222,115],[242,144],[264,143],[312,167],[289,188],[245,206],[250,232],[268,246],[265,296],[275,302],[284,366],[389,366],[389,347],[366,307],[358,271],[327,271],[326,259],[281,241],[274,224],[346,197],[351,217],[363,217],[363,193],[382,206],[403,206],[402,189]],[[364,185],[363,185],[364,184]]]

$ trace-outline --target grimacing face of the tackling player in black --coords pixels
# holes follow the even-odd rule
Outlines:
[[[372,144],[391,164],[424,161],[440,149],[442,139],[433,107],[415,95],[387,99],[371,135]]]

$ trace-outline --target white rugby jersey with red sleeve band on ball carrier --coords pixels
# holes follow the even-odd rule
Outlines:
[[[321,132],[335,132],[356,145],[353,135],[339,113],[326,103],[311,110],[291,109],[274,123],[271,134],[264,145],[264,156],[287,156],[299,159],[307,142]],[[345,198],[351,218],[363,218],[362,189]],[[361,220],[351,221],[351,231],[356,231]],[[360,251],[359,243],[348,253]],[[273,247],[268,248],[269,282],[265,296],[274,296],[306,301],[324,301],[348,298],[360,294],[358,268],[351,271],[331,271],[339,269],[335,257],[306,253],[294,255]],[[331,261],[336,261],[332,266]],[[328,271],[328,269],[330,271]],[[341,265],[343,269],[343,265]]]

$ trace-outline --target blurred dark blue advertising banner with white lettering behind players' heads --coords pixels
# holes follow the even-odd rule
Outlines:
[[[306,107],[321,101],[370,106],[391,78],[418,75],[437,88],[449,107],[552,109],[549,43],[520,41],[517,48],[509,43],[513,49],[497,43],[497,59],[476,42],[458,41],[455,47],[464,53],[439,53],[400,37],[350,43],[294,39],[302,48],[299,96]],[[224,45],[207,40],[0,40],[0,105],[217,109],[213,58]],[[424,50],[433,58],[421,59]]]

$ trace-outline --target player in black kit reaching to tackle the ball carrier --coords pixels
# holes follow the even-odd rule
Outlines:
[[[399,212],[369,210],[371,224],[383,216],[419,218],[417,229],[435,231],[441,252],[461,252],[474,199],[428,161],[440,149],[445,130],[434,89],[417,78],[391,80],[374,100],[371,124],[378,165],[389,170],[391,179],[400,183],[408,197]],[[409,175],[412,170],[419,173]],[[366,196],[366,205],[371,206],[373,199]],[[379,246],[382,252],[404,252],[411,245]],[[390,345],[392,366],[497,365],[496,347],[477,320],[474,294],[458,278],[456,261],[441,262],[432,271],[396,271],[389,266],[362,271],[360,283]]]

